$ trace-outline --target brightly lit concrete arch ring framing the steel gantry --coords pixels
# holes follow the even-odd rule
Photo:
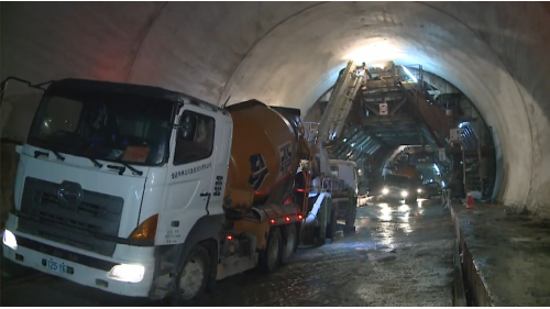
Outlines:
[[[391,7],[396,8],[392,10]],[[375,12],[371,18],[365,18],[365,12],[373,9]],[[392,16],[389,25],[387,15]],[[366,30],[365,25],[369,25]],[[372,40],[376,32],[383,32],[386,37],[378,35]],[[312,42],[308,41],[308,36],[312,37]],[[362,36],[367,40],[362,40]],[[316,42],[319,37],[323,38],[324,45]],[[502,191],[505,194],[501,198],[510,205],[527,203],[530,181],[518,184],[509,178],[512,175],[515,179],[531,178],[536,165],[534,155],[538,150],[532,145],[531,123],[526,110],[529,99],[524,98],[521,86],[501,55],[471,26],[440,8],[410,2],[397,5],[324,3],[311,8],[280,24],[256,44],[255,51],[233,75],[222,99],[231,95],[230,102],[240,101],[252,95],[272,104],[302,104],[307,109],[332,86],[339,68],[344,65],[343,55],[361,45],[383,43],[382,40],[391,37],[402,45],[398,49],[411,51],[405,52],[408,56],[397,63],[419,63],[426,70],[458,86],[473,100],[487,123],[495,129],[497,169],[504,170],[504,175],[498,175],[498,180],[504,180]],[[293,46],[294,57],[288,59],[290,64],[278,56],[284,55],[286,46]],[[465,46],[469,51],[464,51]],[[318,67],[308,65],[309,55],[315,55]],[[289,69],[285,70],[287,67]],[[262,71],[254,71],[255,68]],[[283,76],[286,77],[283,79]],[[307,93],[307,89],[311,88],[312,91]],[[503,109],[515,112],[498,112]],[[509,130],[510,122],[515,123],[515,131]]]

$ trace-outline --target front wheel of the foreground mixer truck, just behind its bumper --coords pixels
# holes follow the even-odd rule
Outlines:
[[[205,293],[211,269],[210,255],[205,246],[196,244],[179,266],[176,290],[172,297],[174,306],[188,305]]]

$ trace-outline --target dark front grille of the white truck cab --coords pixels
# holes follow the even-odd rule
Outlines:
[[[29,234],[111,256],[118,236],[121,197],[84,190],[79,203],[59,201],[59,184],[28,177],[23,189],[19,230]],[[100,239],[98,236],[103,236]]]

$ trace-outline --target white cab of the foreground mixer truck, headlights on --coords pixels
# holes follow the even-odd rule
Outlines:
[[[165,296],[177,272],[167,252],[220,233],[231,132],[227,111],[177,92],[53,84],[18,146],[3,255],[110,293]]]

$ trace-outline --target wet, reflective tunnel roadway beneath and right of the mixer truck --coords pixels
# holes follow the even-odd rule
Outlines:
[[[356,233],[300,249],[270,275],[219,282],[197,306],[452,306],[454,239],[438,200],[358,210]],[[32,295],[32,297],[30,297]],[[2,306],[158,306],[38,275],[2,284]]]

